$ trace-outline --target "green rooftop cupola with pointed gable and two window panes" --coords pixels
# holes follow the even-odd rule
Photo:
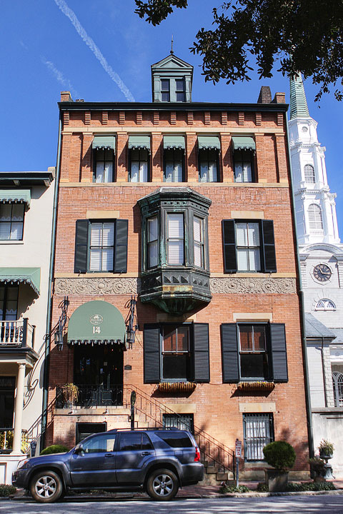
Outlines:
[[[179,59],[171,51],[156,64],[151,65],[152,101],[192,101],[193,66]]]

